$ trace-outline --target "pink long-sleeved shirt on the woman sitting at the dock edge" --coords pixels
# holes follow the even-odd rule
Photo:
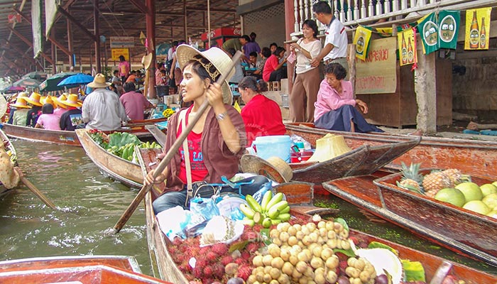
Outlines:
[[[350,104],[354,107],[356,105],[351,82],[342,80],[342,96],[340,96],[335,89],[329,86],[326,79],[322,80],[320,91],[317,92],[317,101],[314,103],[314,121],[317,121],[328,111],[339,109],[345,104]]]

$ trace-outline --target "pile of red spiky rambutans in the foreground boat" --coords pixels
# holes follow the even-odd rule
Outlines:
[[[239,240],[232,244],[214,244],[200,247],[200,236],[181,240],[176,238],[168,251],[185,277],[200,280],[202,283],[219,281],[226,283],[230,276],[224,273],[229,263],[236,263],[237,277],[246,280],[252,272],[252,258],[255,252],[264,246],[258,231],[262,226],[245,226]],[[229,252],[231,246],[241,248],[237,252]],[[190,259],[195,258],[195,268],[190,266]]]

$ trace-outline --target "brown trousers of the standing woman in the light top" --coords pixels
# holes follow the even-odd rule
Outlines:
[[[290,119],[293,122],[314,121],[314,103],[320,83],[320,68],[297,74],[290,94]]]

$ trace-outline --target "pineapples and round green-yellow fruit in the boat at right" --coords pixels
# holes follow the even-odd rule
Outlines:
[[[469,175],[457,169],[433,170],[423,176],[420,164],[403,164],[402,178],[397,185],[406,190],[448,202],[457,207],[497,218],[497,181],[477,185]]]

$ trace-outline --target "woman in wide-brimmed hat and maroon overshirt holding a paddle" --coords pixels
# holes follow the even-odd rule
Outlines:
[[[183,80],[180,83],[185,102],[193,102],[191,107],[182,109],[170,117],[165,149],[171,148],[183,129],[195,116],[200,120],[187,136],[186,151],[181,147],[169,165],[155,179],[154,171],[148,173],[145,185],[165,182],[166,189],[153,202],[155,214],[176,206],[189,207],[190,197],[201,182],[224,183],[222,176],[232,178],[239,169],[239,160],[245,152],[245,126],[240,114],[231,107],[232,95],[228,82],[222,86],[215,84],[217,79],[233,70],[226,70],[231,59],[219,48],[200,52],[190,45],[180,45],[176,50]],[[224,69],[219,68],[224,67]],[[199,113],[200,106],[209,102],[210,107]],[[191,170],[191,173],[189,174]],[[266,179],[267,180],[267,179]],[[242,185],[241,192],[253,194],[261,183]],[[207,188],[208,187],[202,187]],[[211,187],[212,188],[212,187]],[[204,192],[202,197],[209,196]],[[212,190],[210,190],[212,195]]]

